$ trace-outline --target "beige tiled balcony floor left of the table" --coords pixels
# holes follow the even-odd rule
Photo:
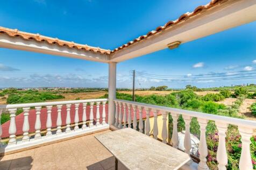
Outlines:
[[[115,158],[94,135],[0,157],[0,169],[115,169]],[[126,168],[118,165],[118,169]]]

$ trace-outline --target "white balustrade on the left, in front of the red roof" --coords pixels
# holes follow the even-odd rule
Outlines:
[[[52,142],[55,140],[73,137],[76,135],[81,135],[83,133],[92,132],[95,130],[102,130],[109,128],[108,123],[106,123],[106,113],[105,104],[108,99],[90,99],[90,100],[72,100],[72,101],[55,101],[55,102],[40,102],[31,104],[13,104],[5,105],[5,108],[10,113],[10,125],[9,125],[9,141],[8,144],[2,145],[2,151],[12,151],[19,148],[42,144],[45,142]],[[94,116],[94,105],[96,104],[96,117]],[[87,105],[89,105],[89,117],[87,116]],[[70,107],[74,107],[75,115],[74,120],[70,119]],[[81,107],[79,107],[81,106]],[[35,125],[34,132],[30,131],[29,123],[29,113],[31,107],[35,108]],[[46,120],[46,134],[42,136],[41,129],[41,109],[46,107],[47,109],[47,120]],[[57,119],[56,127],[52,127],[52,109],[57,108]],[[101,107],[102,112],[99,112],[99,107]],[[18,108],[23,109],[23,137],[22,139],[17,139],[16,136],[16,112]],[[66,108],[63,110],[63,108]],[[1,108],[0,108],[1,109]],[[81,110],[80,110],[81,109]],[[82,120],[79,120],[79,110],[82,112]],[[63,111],[66,113],[66,122],[63,123],[61,115]],[[20,116],[20,115],[19,115]],[[0,110],[1,117],[1,110]],[[45,117],[46,118],[46,117]],[[89,118],[89,122],[87,122]],[[73,125],[71,124],[73,122]],[[54,123],[55,124],[55,123]],[[79,124],[82,124],[81,126]],[[2,127],[0,124],[0,140],[2,135]],[[4,149],[3,149],[4,148]]]

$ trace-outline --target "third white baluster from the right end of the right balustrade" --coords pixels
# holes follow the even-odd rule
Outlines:
[[[206,126],[207,126],[208,120],[198,118],[197,121],[200,125],[200,143],[199,143],[199,149],[198,149],[199,154],[200,154],[200,162],[198,164],[197,169],[198,170],[208,170],[209,167],[206,164],[206,162],[207,162],[206,157],[208,155],[208,148],[207,148],[206,137],[205,137]]]

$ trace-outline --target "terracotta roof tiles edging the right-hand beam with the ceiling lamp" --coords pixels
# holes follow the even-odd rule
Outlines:
[[[179,24],[182,21],[184,21],[184,20],[186,20],[186,19],[188,19],[190,17],[193,17],[196,14],[201,13],[204,10],[208,10],[208,9],[214,7],[215,5],[220,4],[220,3],[224,2],[224,1],[229,1],[229,0],[211,0],[211,2],[209,2],[206,5],[197,6],[197,8],[195,8],[195,10],[193,12],[184,13],[178,19],[176,19],[174,21],[168,21],[165,25],[159,26],[159,27],[155,28],[155,30],[148,32],[146,35],[141,35],[141,36],[139,36],[139,38],[134,39],[134,40],[132,40],[130,42],[127,42],[125,45],[120,46],[120,47],[112,50],[111,53],[115,53],[116,51],[118,51],[120,49],[123,49],[125,47],[128,47],[128,46],[132,45],[133,43],[139,42],[141,40],[144,40],[144,39],[148,38],[149,36],[152,36],[154,34],[160,33],[162,31],[164,31],[165,29],[167,29],[167,28],[169,28],[169,27],[171,27],[173,25]]]

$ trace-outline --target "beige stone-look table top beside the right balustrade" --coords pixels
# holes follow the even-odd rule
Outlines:
[[[131,128],[95,138],[127,169],[179,169],[190,160],[187,153]]]

